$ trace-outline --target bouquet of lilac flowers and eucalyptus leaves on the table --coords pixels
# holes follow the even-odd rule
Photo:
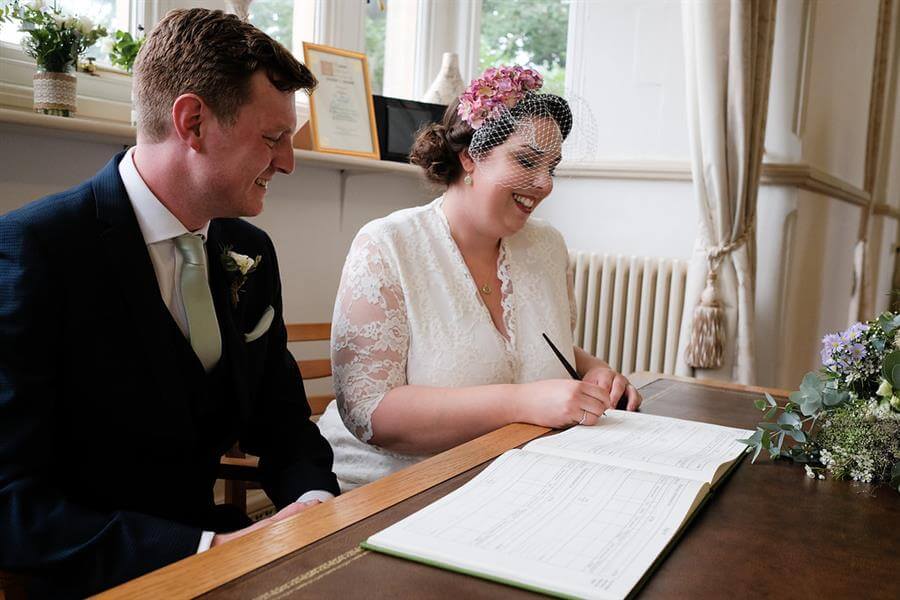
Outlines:
[[[766,450],[804,464],[812,478],[900,491],[900,313],[826,335],[821,357],[822,369],[807,373],[784,405],[769,394],[756,400],[763,421],[740,441],[753,461]]]

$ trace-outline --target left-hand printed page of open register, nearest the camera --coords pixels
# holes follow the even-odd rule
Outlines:
[[[704,484],[512,450],[372,536],[387,550],[588,598],[623,598]]]

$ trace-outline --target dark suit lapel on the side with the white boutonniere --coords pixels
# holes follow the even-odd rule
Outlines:
[[[232,306],[231,281],[225,267],[222,265],[222,249],[229,244],[219,221],[213,220],[209,224],[209,232],[206,240],[206,254],[209,259],[209,286],[216,307],[216,318],[219,320],[219,330],[222,333],[222,347],[225,348],[223,356],[228,369],[228,376],[232,381],[235,397],[240,406],[242,420],[249,417],[250,395],[247,386],[246,364],[247,349],[244,343],[244,334],[238,327],[237,317],[241,314],[243,306],[239,303]]]

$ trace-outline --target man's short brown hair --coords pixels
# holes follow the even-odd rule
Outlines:
[[[203,8],[169,12],[147,36],[134,65],[139,133],[162,141],[172,126],[172,103],[186,93],[197,94],[219,120],[234,124],[259,69],[284,92],[312,92],[317,84],[287,48],[235,15]]]

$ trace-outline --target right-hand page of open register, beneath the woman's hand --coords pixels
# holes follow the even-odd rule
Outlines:
[[[711,482],[741,455],[752,431],[646,413],[608,410],[597,425],[538,438],[527,450]]]

